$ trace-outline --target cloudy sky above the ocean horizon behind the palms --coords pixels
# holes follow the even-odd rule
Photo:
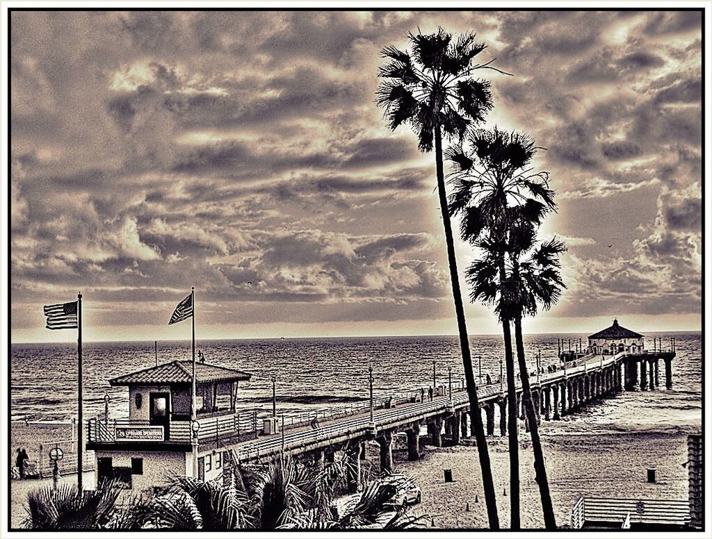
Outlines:
[[[701,13],[13,12],[11,338],[456,333],[434,156],[379,50],[473,31],[486,124],[535,137],[567,291],[528,331],[701,327]],[[471,260],[457,245],[460,269]],[[466,307],[471,333],[496,333]]]

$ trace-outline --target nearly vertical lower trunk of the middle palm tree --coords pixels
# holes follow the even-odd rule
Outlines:
[[[500,282],[504,281],[505,269],[499,268]],[[517,388],[514,381],[514,353],[512,351],[512,330],[508,319],[502,319],[504,336],[504,363],[507,367],[507,429],[509,439],[509,508],[510,528],[521,528],[519,516],[519,439],[517,434]]]

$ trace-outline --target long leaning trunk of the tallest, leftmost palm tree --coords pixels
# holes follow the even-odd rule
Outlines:
[[[445,191],[445,174],[443,171],[443,148],[440,125],[435,128],[435,168],[438,181],[438,196],[440,199],[440,211],[445,228],[445,242],[447,244],[448,265],[450,268],[450,280],[452,282],[452,295],[455,302],[455,314],[457,316],[457,327],[460,335],[460,348],[462,351],[462,365],[465,370],[465,380],[467,385],[467,396],[471,410],[471,420],[475,425],[475,439],[477,442],[477,452],[480,459],[480,469],[482,471],[482,487],[487,506],[487,518],[491,530],[499,529],[499,516],[497,514],[497,503],[495,498],[494,481],[492,479],[492,468],[490,464],[489,452],[487,449],[487,439],[485,429],[482,425],[482,414],[480,403],[477,398],[475,386],[475,375],[472,370],[472,358],[470,356],[470,343],[468,340],[467,326],[465,324],[465,310],[462,304],[462,294],[460,292],[460,279],[457,272],[457,260],[455,257],[455,243],[452,235],[450,216],[448,215],[447,193]]]

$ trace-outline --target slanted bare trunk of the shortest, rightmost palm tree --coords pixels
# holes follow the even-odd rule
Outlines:
[[[544,526],[547,530],[556,529],[556,519],[554,508],[551,503],[549,492],[549,481],[546,476],[546,466],[544,464],[544,454],[541,450],[541,440],[539,438],[539,427],[536,424],[536,412],[532,402],[532,392],[529,387],[529,375],[527,374],[527,364],[524,357],[524,341],[522,338],[522,319],[514,319],[514,336],[517,342],[517,360],[519,362],[519,372],[522,377],[522,393],[524,397],[524,410],[529,422],[529,431],[532,437],[532,449],[534,451],[534,469],[536,471],[536,481],[539,484],[539,495],[541,496],[541,506],[544,512]]]

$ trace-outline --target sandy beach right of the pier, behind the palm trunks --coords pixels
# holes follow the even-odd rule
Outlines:
[[[579,496],[672,498],[686,500],[686,434],[621,433],[551,435],[542,429],[543,451],[556,522],[571,524],[571,509]],[[520,499],[523,528],[543,528],[538,485],[534,481],[530,442],[520,434]],[[509,461],[506,438],[491,439],[490,459],[497,489],[500,525],[509,525]],[[398,471],[414,476],[422,503],[414,514],[427,514],[435,528],[487,528],[486,507],[475,447],[426,447],[419,461],[398,459]],[[646,482],[646,467],[655,466],[657,482]],[[444,482],[451,469],[454,482]],[[504,495],[507,489],[507,495]],[[478,501],[475,501],[475,497]],[[466,511],[469,503],[470,511]],[[431,526],[431,521],[428,521]]]

